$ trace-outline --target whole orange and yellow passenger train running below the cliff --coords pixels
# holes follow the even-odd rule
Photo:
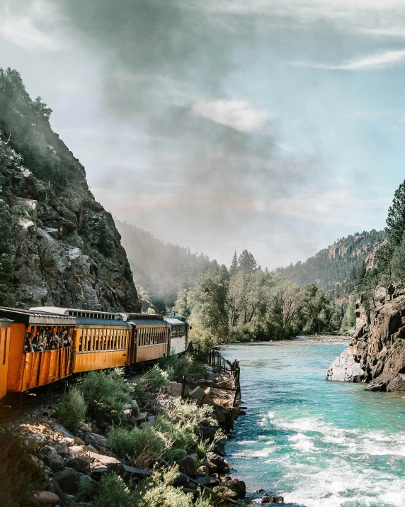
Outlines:
[[[181,316],[0,307],[0,401],[75,374],[182,354],[189,328]]]

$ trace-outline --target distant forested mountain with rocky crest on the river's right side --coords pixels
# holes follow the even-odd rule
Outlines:
[[[292,282],[315,284],[331,299],[347,299],[353,291],[353,274],[385,238],[384,230],[370,230],[341,238],[305,262],[276,269]]]

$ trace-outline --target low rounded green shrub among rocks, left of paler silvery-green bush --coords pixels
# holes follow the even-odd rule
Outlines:
[[[164,441],[152,428],[115,427],[108,433],[108,443],[115,454],[125,457],[140,468],[151,468],[166,452],[168,440]]]

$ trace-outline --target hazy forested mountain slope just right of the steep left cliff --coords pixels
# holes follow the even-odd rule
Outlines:
[[[117,219],[115,223],[142,300],[150,301],[161,312],[173,306],[179,290],[192,286],[199,274],[217,264],[190,248],[164,243],[135,224]]]

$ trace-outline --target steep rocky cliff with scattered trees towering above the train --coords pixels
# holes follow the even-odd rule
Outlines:
[[[138,311],[127,255],[84,167],[52,132],[16,71],[0,70],[1,304]],[[3,269],[4,268],[4,269]],[[3,269],[3,270],[2,270]]]

